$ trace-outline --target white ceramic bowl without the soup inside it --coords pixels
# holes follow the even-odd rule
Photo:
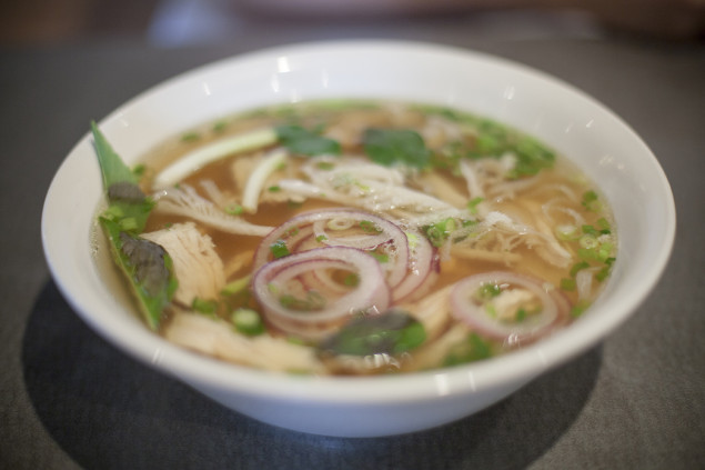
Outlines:
[[[612,332],[663,272],[675,209],[664,172],[644,142],[581,91],[485,54],[389,41],[283,47],[169,80],[112,112],[100,127],[130,163],[167,138],[236,110],[341,97],[433,102],[485,114],[574,160],[604,191],[620,234],[618,259],[600,300],[581,320],[535,346],[433,372],[310,378],[211,360],[151,333],[108,289],[91,252],[102,188],[87,134],[56,174],[42,216],[46,256],[73,309],[119,349],[225,407],[300,431],[372,437],[432,428],[501,400]]]

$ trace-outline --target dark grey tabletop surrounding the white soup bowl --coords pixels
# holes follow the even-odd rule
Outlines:
[[[359,440],[255,422],[93,334],[58,292],[40,240],[46,190],[89,121],[195,66],[339,37],[426,40],[513,59],[585,90],[631,123],[664,167],[678,211],[672,261],[636,314],[473,417]],[[702,46],[483,39],[431,22],[382,32],[272,28],[185,49],[117,41],[0,50],[0,468],[705,468]]]

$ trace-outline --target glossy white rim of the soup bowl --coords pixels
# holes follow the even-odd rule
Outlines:
[[[315,400],[322,403],[340,404],[350,402],[399,403],[417,401],[434,399],[441,394],[457,396],[474,392],[477,390],[479,384],[481,384],[481,388],[484,390],[485,388],[502,387],[508,379],[512,381],[530,380],[538,373],[557,367],[586,351],[624,322],[642,304],[653,287],[657,283],[673,250],[676,213],[669,183],[656,157],[636,132],[612,110],[572,84],[530,66],[485,52],[431,42],[406,40],[328,40],[302,42],[236,54],[179,73],[148,88],[145,91],[125,101],[101,119],[99,126],[119,119],[122,113],[152,93],[178,86],[184,80],[216,72],[222,67],[228,67],[233,63],[246,63],[250,61],[270,60],[280,56],[305,54],[311,52],[339,52],[341,49],[380,50],[380,48],[385,48],[390,51],[404,50],[419,53],[444,54],[456,57],[460,60],[470,59],[508,69],[513,73],[530,74],[553,87],[567,90],[574,94],[576,99],[587,101],[591,106],[600,109],[601,112],[606,113],[616,126],[622,127],[625,136],[635,140],[639,146],[644,158],[649,159],[653,169],[658,173],[657,177],[662,183],[662,189],[668,198],[668,200],[664,201],[667,220],[663,234],[663,243],[657,253],[652,253],[654,256],[651,264],[652,269],[643,273],[642,283],[639,284],[641,289],[636,292],[631,292],[631,297],[628,298],[615,300],[612,304],[612,309],[615,310],[613,316],[600,317],[600,321],[596,321],[596,318],[591,316],[578,319],[575,324],[581,324],[580,334],[575,328],[566,328],[551,338],[543,339],[518,351],[492,358],[489,361],[399,376],[306,377],[253,370],[193,353],[167,342],[163,338],[149,332],[147,328],[143,328],[144,331],[142,333],[137,333],[137,338],[131,342],[120,333],[120,330],[114,329],[114,321],[99,321],[81,301],[80,292],[77,292],[75,287],[66,278],[62,269],[54,262],[54,247],[50,243],[52,233],[51,228],[48,226],[48,211],[51,209],[52,199],[56,198],[54,192],[58,190],[57,181],[62,171],[66,171],[66,167],[72,156],[83,146],[90,144],[90,136],[87,133],[69,152],[54,174],[44,200],[41,223],[42,246],[54,282],[69,304],[79,313],[83,321],[101,337],[109,339],[110,343],[129,356],[143,363],[151,364],[164,373],[179,377],[185,381],[195,381],[221,389],[236,389],[243,393],[252,393],[280,400]],[[371,390],[374,393],[370,392]]]

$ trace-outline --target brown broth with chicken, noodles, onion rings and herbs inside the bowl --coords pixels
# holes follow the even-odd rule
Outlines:
[[[424,370],[578,317],[615,260],[605,201],[535,139],[452,109],[259,109],[124,167],[99,220],[147,324],[266,370]]]

